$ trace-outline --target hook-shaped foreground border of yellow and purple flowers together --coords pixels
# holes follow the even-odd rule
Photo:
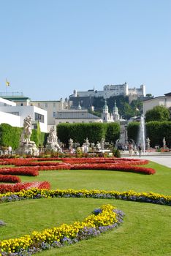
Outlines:
[[[74,244],[83,239],[99,236],[123,222],[123,212],[115,207],[103,205],[93,211],[83,222],[72,225],[34,231],[31,235],[0,241],[1,255],[32,255],[44,249]]]

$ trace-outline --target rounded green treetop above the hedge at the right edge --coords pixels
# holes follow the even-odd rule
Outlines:
[[[145,113],[145,121],[169,121],[170,111],[164,106],[156,106]]]

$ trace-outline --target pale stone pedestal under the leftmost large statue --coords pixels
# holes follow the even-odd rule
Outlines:
[[[39,156],[39,149],[37,148],[36,143],[34,141],[28,141],[28,143],[23,142],[16,152],[21,156],[23,156],[24,154],[28,154],[34,157]]]

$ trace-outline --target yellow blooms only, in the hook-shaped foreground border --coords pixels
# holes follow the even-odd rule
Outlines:
[[[18,252],[20,249],[28,249],[38,242],[60,241],[61,238],[76,238],[83,227],[100,227],[113,225],[117,222],[115,207],[107,204],[101,206],[102,212],[98,215],[91,214],[83,222],[74,222],[72,225],[63,224],[60,227],[45,229],[42,232],[34,231],[31,235],[0,241],[0,252]]]

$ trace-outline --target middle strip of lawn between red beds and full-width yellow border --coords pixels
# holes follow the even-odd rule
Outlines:
[[[149,163],[156,170],[154,175],[126,173],[110,170],[49,170],[40,171],[37,177],[20,176],[22,181],[49,181],[52,189],[106,189],[170,194],[171,170]]]

